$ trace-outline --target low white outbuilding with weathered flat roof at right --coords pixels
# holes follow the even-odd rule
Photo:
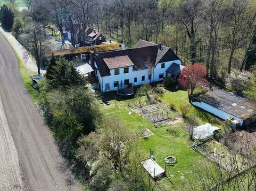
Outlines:
[[[256,126],[256,105],[232,92],[214,89],[194,98],[192,104],[223,120],[233,118],[239,126]]]

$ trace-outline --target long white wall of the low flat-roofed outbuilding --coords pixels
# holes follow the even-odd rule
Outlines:
[[[200,107],[200,108],[206,110],[209,113],[212,113],[212,114],[218,116],[219,118],[221,118],[223,120],[226,120],[227,118],[232,117],[235,120],[239,121],[239,126],[243,125],[243,120],[242,119],[240,119],[238,117],[235,117],[233,115],[230,115],[230,114],[228,114],[228,113],[226,113],[226,112],[224,112],[222,110],[219,110],[219,109],[217,109],[215,107],[212,107],[212,106],[210,106],[210,105],[208,105],[208,104],[206,104],[204,102],[192,102],[192,104],[194,106],[197,106],[197,107]]]

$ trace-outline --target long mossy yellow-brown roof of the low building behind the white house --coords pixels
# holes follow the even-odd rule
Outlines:
[[[96,45],[96,46],[81,46],[78,48],[71,48],[71,49],[62,49],[62,50],[54,50],[52,51],[54,56],[64,56],[69,54],[76,54],[76,53],[89,53],[91,51],[95,53],[100,52],[106,52],[106,51],[112,51],[112,50],[119,50],[120,43],[109,43],[109,44],[102,44],[102,45]]]

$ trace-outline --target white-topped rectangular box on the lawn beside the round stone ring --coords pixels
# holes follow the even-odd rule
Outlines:
[[[161,168],[152,158],[141,161],[141,165],[154,180],[159,180],[160,178],[166,176],[165,170]]]

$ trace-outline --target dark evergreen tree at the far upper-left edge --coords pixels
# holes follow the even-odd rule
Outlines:
[[[14,23],[14,15],[7,5],[3,5],[0,8],[0,22],[3,27],[7,30],[11,30]]]

